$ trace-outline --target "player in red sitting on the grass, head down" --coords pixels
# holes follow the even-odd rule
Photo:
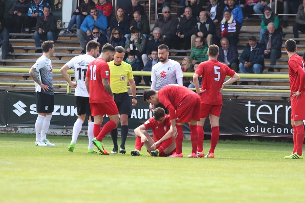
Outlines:
[[[135,150],[131,151],[132,156],[142,156],[141,148],[146,146],[151,156],[169,156],[176,151],[176,143],[172,138],[170,116],[165,114],[163,108],[156,108],[153,117],[145,121],[135,129]],[[153,139],[148,135],[146,129],[152,128]],[[156,149],[157,148],[157,149]],[[155,150],[156,149],[156,150]]]

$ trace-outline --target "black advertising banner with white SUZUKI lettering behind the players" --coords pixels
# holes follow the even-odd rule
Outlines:
[[[1,114],[0,124],[35,127],[37,119],[35,93],[4,92],[0,95],[0,103],[4,103],[6,100],[6,116]],[[131,100],[132,96],[130,96],[130,102]],[[73,128],[77,119],[74,95],[55,93],[54,103],[50,127]],[[0,112],[3,112],[4,110],[1,108]],[[224,99],[220,117],[220,133],[221,135],[292,137],[290,116],[290,101]],[[138,96],[138,104],[132,108],[131,118],[128,119],[129,129],[138,127],[150,117],[152,117],[152,112],[149,111],[149,104],[143,102],[142,96]],[[109,121],[108,117],[104,116],[103,124],[107,121]],[[85,125],[87,125],[86,122],[84,128]],[[189,133],[188,124],[184,125],[183,130],[185,133]],[[208,118],[204,131],[206,134],[211,133]]]

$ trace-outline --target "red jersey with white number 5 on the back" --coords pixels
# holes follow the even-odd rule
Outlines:
[[[202,75],[201,90],[206,89],[200,94],[201,103],[222,104],[222,95],[219,90],[227,75],[233,77],[234,70],[217,60],[208,60],[201,62],[195,73]]]

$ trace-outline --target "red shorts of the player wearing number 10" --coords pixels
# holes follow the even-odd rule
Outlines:
[[[114,100],[104,103],[90,103],[91,115],[116,115],[119,114],[117,110],[117,105]]]

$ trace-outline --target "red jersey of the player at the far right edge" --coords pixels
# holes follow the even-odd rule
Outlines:
[[[296,92],[300,87],[300,75],[297,73],[299,70],[304,71],[305,61],[298,54],[293,54],[288,61],[289,65],[289,82],[290,82],[290,91]],[[302,91],[305,90],[305,87],[302,88]]]

